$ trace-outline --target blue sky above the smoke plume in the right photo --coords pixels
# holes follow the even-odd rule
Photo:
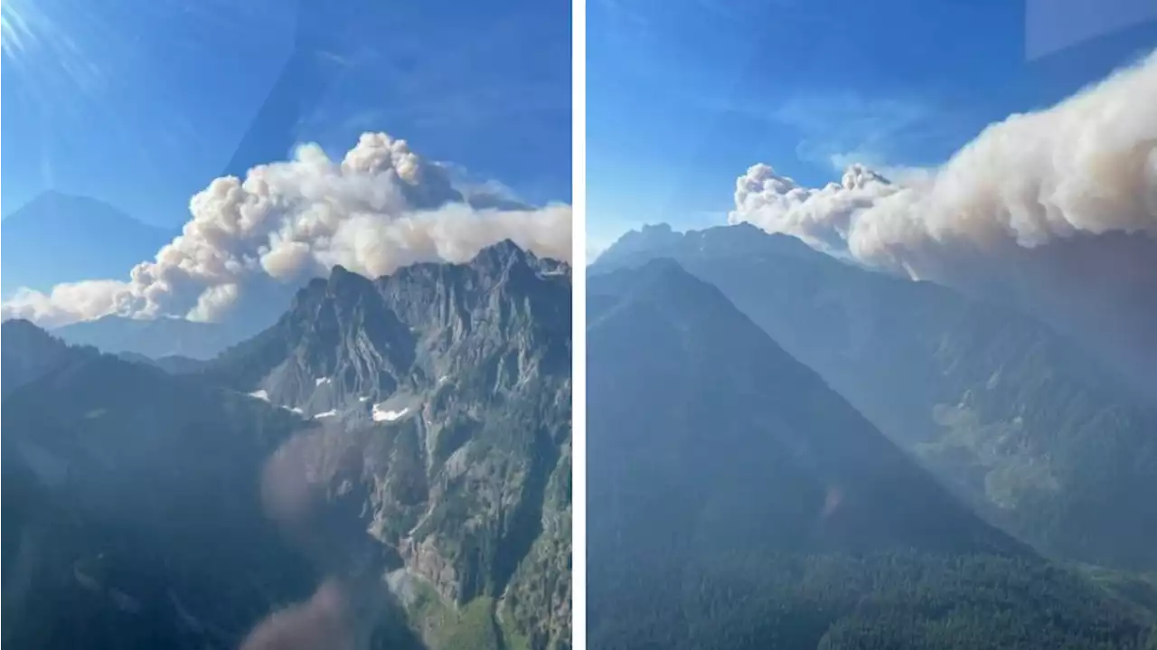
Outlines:
[[[588,0],[588,250],[725,222],[756,162],[933,165],[1157,47],[1152,0]]]

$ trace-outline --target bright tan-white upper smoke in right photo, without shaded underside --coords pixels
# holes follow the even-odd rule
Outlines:
[[[943,167],[893,184],[862,167],[806,189],[767,165],[730,220],[902,269],[929,246],[1039,246],[1077,232],[1157,234],[1157,53],[1049,109],[985,130]]]

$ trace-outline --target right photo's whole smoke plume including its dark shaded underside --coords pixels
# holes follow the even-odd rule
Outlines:
[[[1004,297],[1062,328],[1152,350],[1152,106],[1157,52],[1055,106],[989,126],[938,169],[890,180],[854,165],[841,183],[808,189],[754,165],[737,182],[729,221],[914,278],[1017,293]]]

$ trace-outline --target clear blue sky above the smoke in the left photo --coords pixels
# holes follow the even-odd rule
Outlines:
[[[0,215],[53,189],[176,227],[222,172],[367,130],[569,201],[569,34],[566,0],[0,0]]]

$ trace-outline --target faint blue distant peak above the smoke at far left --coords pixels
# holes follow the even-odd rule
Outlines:
[[[0,220],[0,297],[20,287],[46,291],[60,282],[127,279],[179,234],[95,199],[45,192]]]

